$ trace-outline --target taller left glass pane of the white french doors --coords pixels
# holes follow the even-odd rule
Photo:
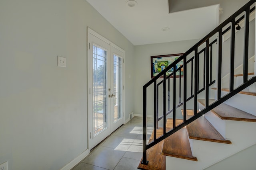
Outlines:
[[[107,127],[106,55],[106,51],[93,45],[93,135]]]

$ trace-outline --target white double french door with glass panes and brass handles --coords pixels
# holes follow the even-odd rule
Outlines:
[[[124,51],[88,29],[88,148],[124,123]]]

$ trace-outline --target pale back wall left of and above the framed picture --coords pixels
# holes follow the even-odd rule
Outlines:
[[[184,53],[198,41],[199,39],[135,46],[135,59],[134,59],[134,71],[135,71],[134,113],[135,114],[142,115],[142,102],[143,102],[142,87],[151,79],[150,56]],[[152,110],[153,106],[151,105],[149,107],[150,107],[149,111]],[[152,116],[152,111],[150,111],[148,115]]]

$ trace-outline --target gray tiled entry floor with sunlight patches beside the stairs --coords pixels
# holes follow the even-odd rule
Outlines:
[[[153,119],[148,118],[149,139]],[[142,158],[142,117],[134,117],[105,139],[72,170],[137,170]]]

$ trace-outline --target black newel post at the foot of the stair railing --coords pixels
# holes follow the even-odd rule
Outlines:
[[[146,103],[147,103],[147,87],[143,86],[143,158],[142,158],[142,164],[148,164],[147,161],[147,113],[146,113]],[[154,132],[156,133],[156,132]]]

